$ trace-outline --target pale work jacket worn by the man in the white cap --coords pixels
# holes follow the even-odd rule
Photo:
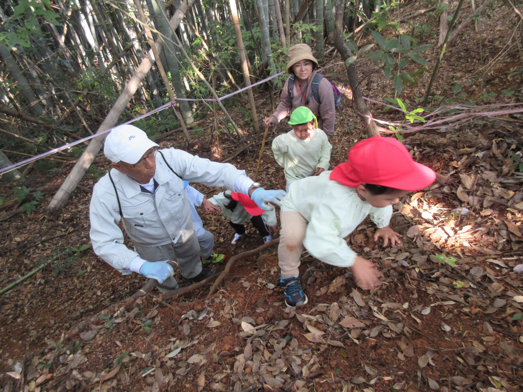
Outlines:
[[[244,170],[231,164],[211,162],[179,149],[160,151],[170,167],[191,182],[234,190],[235,180],[245,175]],[[123,227],[133,243],[160,246],[176,242],[189,221],[189,205],[184,181],[167,167],[160,153],[156,154],[154,179],[158,186],[154,194],[142,192],[137,182],[116,169],[110,173],[118,190]],[[123,245],[123,233],[118,227],[121,218],[118,200],[108,174],[94,186],[89,217],[95,253],[120,272],[130,273],[126,267],[138,253]]]

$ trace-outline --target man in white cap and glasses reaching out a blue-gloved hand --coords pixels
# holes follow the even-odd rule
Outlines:
[[[112,169],[93,190],[90,238],[95,253],[112,267],[156,279],[166,291],[178,288],[169,260],[176,258],[184,282],[213,274],[202,267],[183,180],[248,194],[265,210],[279,205],[285,192],[261,188],[230,164],[157,147],[133,125],[117,126],[106,137],[104,154]],[[120,219],[134,250],[123,244]]]

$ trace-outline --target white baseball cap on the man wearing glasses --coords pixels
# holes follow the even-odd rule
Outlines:
[[[134,125],[119,125],[105,139],[104,154],[112,162],[134,165],[151,147],[158,146]]]

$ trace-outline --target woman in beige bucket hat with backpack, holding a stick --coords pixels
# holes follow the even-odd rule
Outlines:
[[[315,114],[318,120],[318,128],[322,129],[327,137],[334,134],[335,104],[331,82],[326,78],[320,80],[318,93],[320,102],[317,102],[312,94],[312,81],[319,66],[318,61],[312,55],[311,48],[305,43],[298,43],[289,48],[287,52],[289,63],[286,71],[291,76],[283,85],[280,103],[276,111],[267,117],[264,122],[266,126],[276,125],[281,119],[290,114],[293,109],[306,106]],[[289,91],[289,80],[293,80],[292,94]]]

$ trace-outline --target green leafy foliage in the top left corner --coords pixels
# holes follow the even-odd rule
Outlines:
[[[54,26],[62,26],[56,20],[60,15],[55,14],[50,5],[50,0],[40,2],[30,0],[19,0],[14,7],[14,14],[5,20],[3,30],[0,32],[0,45],[5,47],[30,48],[29,36],[34,33],[41,34],[37,18],[42,18]]]

